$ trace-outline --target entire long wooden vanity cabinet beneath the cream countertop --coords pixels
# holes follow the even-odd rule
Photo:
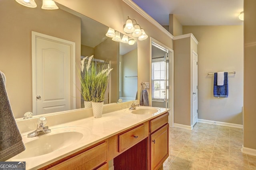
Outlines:
[[[168,157],[169,124],[166,112],[104,141],[66,156],[40,170],[157,170]]]

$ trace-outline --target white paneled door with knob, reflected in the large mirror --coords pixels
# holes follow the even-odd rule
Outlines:
[[[72,109],[74,95],[72,94],[74,83],[72,82],[72,45],[74,44],[40,33],[39,36],[35,35],[33,40],[34,114]]]

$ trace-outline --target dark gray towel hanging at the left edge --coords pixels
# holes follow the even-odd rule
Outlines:
[[[0,71],[0,161],[5,161],[25,150],[7,96],[6,79]]]

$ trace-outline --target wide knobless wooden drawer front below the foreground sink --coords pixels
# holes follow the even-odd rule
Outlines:
[[[57,164],[49,168],[50,170],[71,170],[71,169],[82,169],[92,170],[107,161],[108,156],[108,145],[104,142],[92,149],[86,150],[64,162]],[[99,169],[102,169],[100,167]],[[104,165],[103,165],[104,169]]]

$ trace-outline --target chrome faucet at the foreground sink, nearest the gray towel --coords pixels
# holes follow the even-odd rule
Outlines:
[[[28,137],[36,137],[40,135],[44,135],[46,133],[50,133],[51,129],[48,129],[48,126],[44,126],[46,124],[46,117],[40,117],[37,120],[37,128],[35,131],[28,133]]]

